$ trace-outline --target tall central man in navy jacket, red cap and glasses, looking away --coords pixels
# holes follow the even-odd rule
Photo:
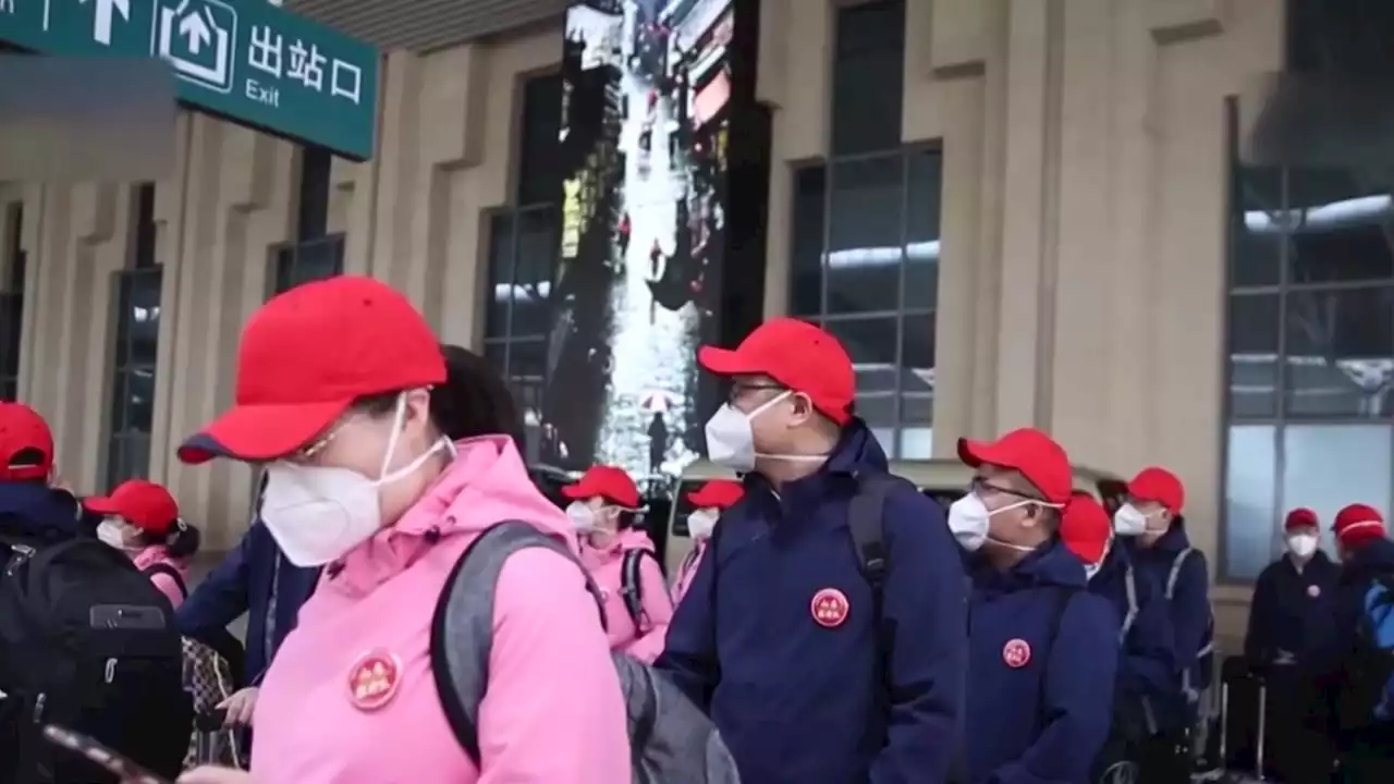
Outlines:
[[[942,508],[909,484],[887,497],[878,628],[848,515],[887,458],[852,416],[846,350],[779,318],[698,359],[730,379],[707,449],[746,474],[746,497],[722,515],[658,667],[710,711],[746,781],[944,781],[967,608]]]

